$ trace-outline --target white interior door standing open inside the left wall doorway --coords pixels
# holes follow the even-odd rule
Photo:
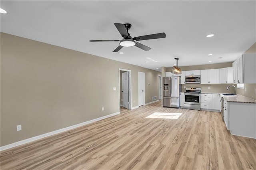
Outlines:
[[[128,71],[122,73],[122,99],[123,107],[129,109],[129,95],[128,95]]]

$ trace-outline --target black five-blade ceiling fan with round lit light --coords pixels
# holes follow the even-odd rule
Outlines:
[[[146,45],[143,45],[141,43],[138,43],[137,41],[141,40],[150,40],[150,39],[157,39],[157,38],[165,38],[166,34],[164,32],[158,33],[158,34],[150,34],[146,36],[139,36],[132,38],[130,34],[128,33],[128,30],[132,27],[132,24],[114,24],[117,28],[117,30],[120,32],[121,36],[124,38],[123,40],[90,40],[90,42],[119,42],[120,45],[114,49],[113,52],[118,52],[122,47],[131,47],[136,46],[140,49],[143,49],[145,51],[150,50],[150,47],[147,47]]]

